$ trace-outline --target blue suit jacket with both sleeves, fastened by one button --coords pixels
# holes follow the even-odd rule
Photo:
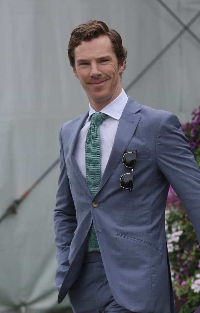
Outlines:
[[[117,303],[140,313],[173,313],[164,214],[171,184],[200,241],[200,171],[178,118],[129,98],[94,198],[75,161],[88,112],[61,127],[59,187],[54,210],[58,303],[78,278],[92,220]],[[133,191],[120,187],[124,151],[137,150]],[[92,207],[92,201],[98,203]]]

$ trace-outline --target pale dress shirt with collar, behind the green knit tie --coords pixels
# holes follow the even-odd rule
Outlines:
[[[108,118],[99,126],[100,150],[101,150],[101,177],[107,165],[110,152],[112,150],[115,134],[119,124],[120,117],[128,101],[125,91],[122,89],[120,95],[105,106],[100,112],[105,113]],[[90,106],[90,104],[89,104]],[[86,178],[85,171],[85,139],[90,127],[91,115],[96,112],[91,106],[89,116],[85,120],[83,128],[80,130],[75,147],[75,159],[80,168],[80,172]]]

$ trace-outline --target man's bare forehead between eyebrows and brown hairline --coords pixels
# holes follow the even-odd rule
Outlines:
[[[112,44],[108,36],[100,36],[90,41],[82,41],[78,47],[74,49],[75,61],[78,59],[96,58],[101,55],[109,54],[115,56]]]

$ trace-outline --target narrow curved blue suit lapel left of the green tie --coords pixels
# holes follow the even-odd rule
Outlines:
[[[74,149],[75,149],[75,146],[76,146],[76,141],[77,141],[79,132],[80,132],[81,128],[83,127],[86,118],[88,117],[88,114],[89,114],[89,112],[86,112],[83,115],[81,115],[79,117],[79,119],[76,121],[76,124],[74,125],[74,132],[73,132],[73,136],[72,136],[71,143],[70,143],[69,155],[70,155],[71,164],[73,166],[76,178],[80,182],[80,185],[83,187],[85,192],[90,196],[90,198],[92,198],[92,195],[91,195],[91,192],[90,192],[90,190],[88,188],[86,180],[82,176],[82,174],[80,172],[80,169],[78,167],[78,164],[77,164],[77,162],[75,160],[75,157],[74,157]]]

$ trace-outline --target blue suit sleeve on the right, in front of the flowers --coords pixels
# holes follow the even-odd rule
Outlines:
[[[156,158],[159,169],[188,212],[200,242],[200,170],[177,116],[171,113],[159,126]]]

